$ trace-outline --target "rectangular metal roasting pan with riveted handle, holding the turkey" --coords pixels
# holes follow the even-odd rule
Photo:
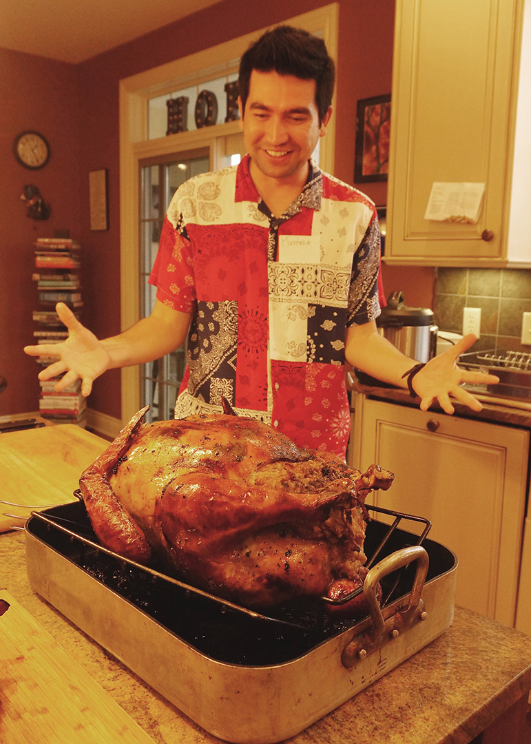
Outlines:
[[[357,620],[321,600],[263,615],[126,561],[97,545],[82,502],[30,516],[28,577],[34,591],[210,734],[272,744],[451,624],[457,558],[429,539],[418,545],[418,525],[411,523],[416,533],[402,528],[408,516],[393,522],[395,513],[377,511],[386,521],[372,519],[365,542],[367,556],[377,557],[363,589],[370,612]]]

